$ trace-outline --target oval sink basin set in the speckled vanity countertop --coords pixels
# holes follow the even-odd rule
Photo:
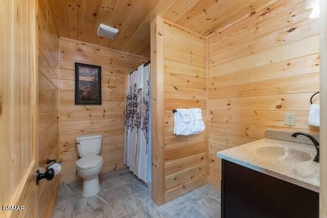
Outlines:
[[[280,146],[263,146],[256,149],[256,153],[262,157],[276,158],[293,162],[311,160],[312,157],[306,151]]]

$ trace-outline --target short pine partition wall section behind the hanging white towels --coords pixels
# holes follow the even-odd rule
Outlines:
[[[174,135],[172,112],[175,108],[201,108],[205,120],[205,91],[205,39],[165,23],[166,202],[206,184],[206,132]]]

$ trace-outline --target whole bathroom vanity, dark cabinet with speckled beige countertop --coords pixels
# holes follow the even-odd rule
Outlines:
[[[264,138],[218,152],[222,217],[319,217],[315,148]]]

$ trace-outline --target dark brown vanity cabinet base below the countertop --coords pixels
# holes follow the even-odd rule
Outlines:
[[[225,218],[318,218],[319,193],[222,160],[221,214]]]

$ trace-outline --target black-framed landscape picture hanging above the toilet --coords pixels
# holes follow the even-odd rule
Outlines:
[[[101,66],[75,63],[75,105],[101,105]]]

